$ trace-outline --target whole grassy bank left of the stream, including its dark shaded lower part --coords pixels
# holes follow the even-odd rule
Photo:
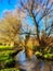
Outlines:
[[[10,46],[0,46],[0,63],[2,63],[2,68],[6,68],[8,64],[12,64],[15,62],[15,60],[10,56],[15,50],[12,50]],[[9,68],[9,67],[8,67]],[[1,70],[1,71],[13,71],[13,70]],[[17,71],[17,70],[14,70]]]

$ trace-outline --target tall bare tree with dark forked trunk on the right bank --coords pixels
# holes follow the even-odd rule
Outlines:
[[[36,26],[37,38],[40,42],[40,33],[41,33],[41,24],[43,24],[44,17],[52,19],[53,13],[53,1],[52,0],[19,0],[19,5],[17,5],[17,11],[22,11],[27,13],[26,16],[32,17],[34,24]],[[40,22],[42,22],[40,24]],[[45,23],[44,23],[45,24]],[[49,26],[50,25],[50,26]],[[45,27],[45,32],[50,28],[49,34],[52,31],[52,24],[48,23]],[[47,33],[48,34],[48,33]]]

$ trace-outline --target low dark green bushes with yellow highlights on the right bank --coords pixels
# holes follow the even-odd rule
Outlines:
[[[34,47],[35,55],[44,59],[53,59],[53,49],[52,47]]]

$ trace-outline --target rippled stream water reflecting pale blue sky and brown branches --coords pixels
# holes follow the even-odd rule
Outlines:
[[[53,71],[53,61],[39,60],[36,56],[28,60],[24,50],[16,56],[16,63],[21,71]]]

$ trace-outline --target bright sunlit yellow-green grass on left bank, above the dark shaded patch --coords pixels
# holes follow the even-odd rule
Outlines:
[[[8,60],[10,58],[10,54],[14,52],[11,46],[0,46],[0,61]]]

